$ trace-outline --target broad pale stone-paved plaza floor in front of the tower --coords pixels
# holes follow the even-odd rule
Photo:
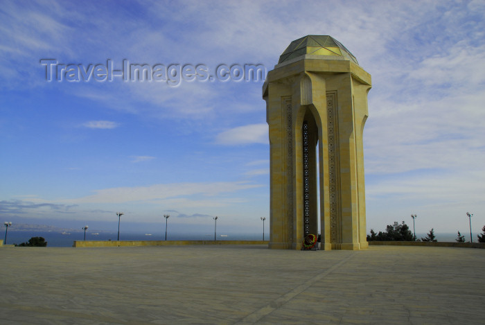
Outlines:
[[[485,324],[485,249],[0,247],[0,324]]]

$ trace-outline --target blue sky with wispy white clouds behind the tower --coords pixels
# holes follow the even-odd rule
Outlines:
[[[367,229],[485,225],[484,1],[1,1],[0,213],[260,231],[269,218],[261,81],[46,81],[62,64],[263,64],[332,35],[372,75]]]

